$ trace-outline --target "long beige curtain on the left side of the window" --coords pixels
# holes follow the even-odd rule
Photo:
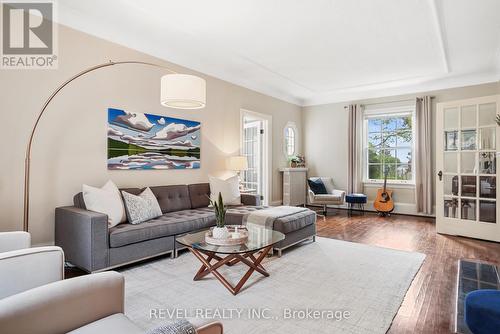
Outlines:
[[[348,141],[348,170],[347,192],[358,193],[363,191],[361,138],[363,138],[363,107],[359,104],[349,105],[349,141]]]

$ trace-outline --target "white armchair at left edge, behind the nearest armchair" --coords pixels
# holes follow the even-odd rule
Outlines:
[[[0,299],[64,278],[60,247],[30,247],[27,232],[0,233]]]

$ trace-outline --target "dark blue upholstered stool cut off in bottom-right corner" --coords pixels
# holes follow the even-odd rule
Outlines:
[[[500,290],[476,290],[465,297],[465,323],[474,334],[500,333]]]

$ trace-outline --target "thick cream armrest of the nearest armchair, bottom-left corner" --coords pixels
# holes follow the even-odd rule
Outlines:
[[[2,333],[67,333],[124,312],[123,276],[85,275],[0,300]]]

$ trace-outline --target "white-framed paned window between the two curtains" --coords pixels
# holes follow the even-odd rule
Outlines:
[[[365,114],[365,181],[414,183],[414,108]]]

